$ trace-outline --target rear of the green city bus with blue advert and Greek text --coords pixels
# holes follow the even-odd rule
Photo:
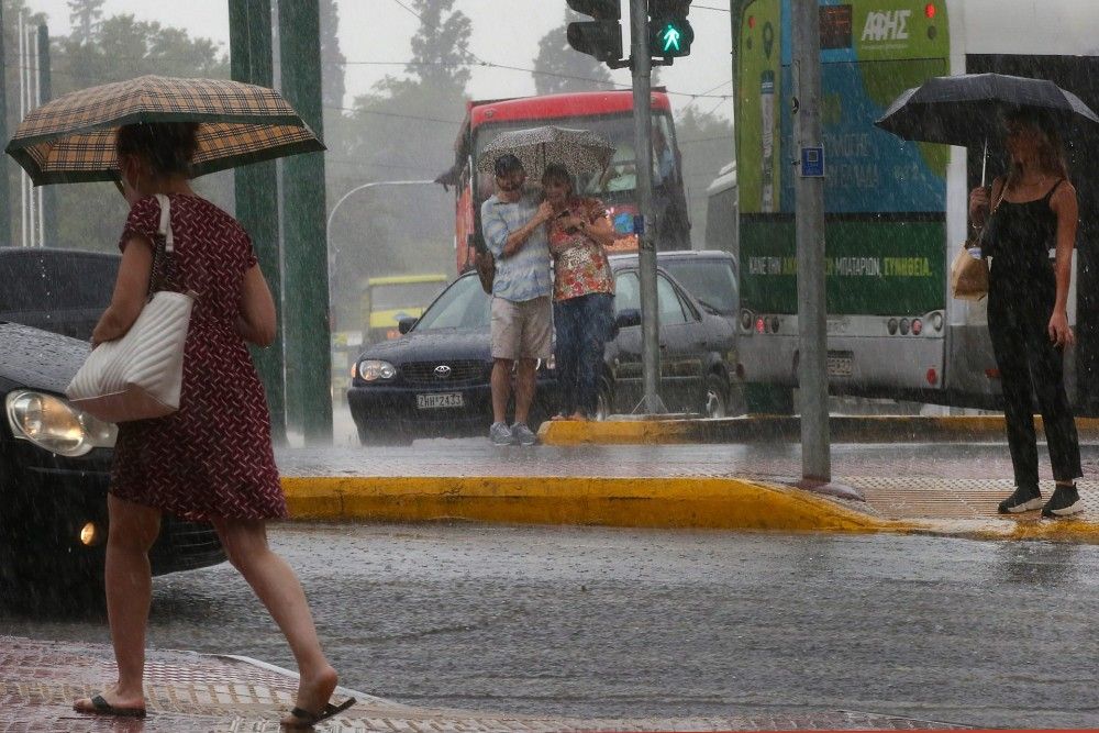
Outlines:
[[[947,9],[928,7],[821,4],[829,368],[841,385],[942,384],[950,148],[872,124],[904,89],[950,73]],[[785,385],[798,338],[790,16],[790,0],[745,2],[736,54],[741,359],[750,381]],[[864,337],[906,340],[903,366],[884,368],[874,344],[850,343]]]

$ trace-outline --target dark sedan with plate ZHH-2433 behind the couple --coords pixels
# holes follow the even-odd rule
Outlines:
[[[612,265],[618,335],[607,344],[599,418],[637,411],[644,396],[636,266]],[[660,396],[675,412],[721,417],[730,395],[734,330],[658,271]],[[490,299],[469,273],[454,280],[404,335],[366,348],[347,401],[363,443],[481,435],[491,422]],[[556,410],[553,362],[541,363],[531,426]]]

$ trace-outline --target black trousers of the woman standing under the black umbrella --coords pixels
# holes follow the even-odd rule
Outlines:
[[[1046,277],[1025,281],[995,275],[989,282],[988,332],[1003,388],[1003,417],[1015,486],[1037,488],[1034,397],[1050,447],[1053,478],[1083,476],[1076,422],[1065,393],[1064,355],[1050,342],[1055,289]],[[1043,273],[1044,275],[1044,273]]]

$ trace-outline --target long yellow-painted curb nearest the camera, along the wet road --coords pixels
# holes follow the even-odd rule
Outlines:
[[[910,532],[799,489],[736,478],[284,477],[295,520]]]

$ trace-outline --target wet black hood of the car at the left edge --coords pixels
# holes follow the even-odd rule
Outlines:
[[[0,322],[0,379],[62,395],[90,348],[86,341]]]

